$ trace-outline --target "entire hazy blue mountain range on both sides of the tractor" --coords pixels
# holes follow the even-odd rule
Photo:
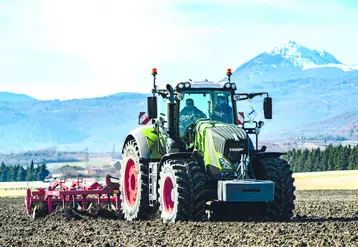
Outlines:
[[[223,80],[226,78],[223,78]],[[358,139],[358,66],[341,63],[326,51],[293,41],[261,53],[234,70],[237,92],[268,92],[273,119],[264,120],[260,138],[294,140]],[[0,93],[1,152],[56,147],[90,152],[117,150],[146,110],[147,94],[118,93],[100,98],[36,100]],[[257,111],[262,99],[240,102]]]

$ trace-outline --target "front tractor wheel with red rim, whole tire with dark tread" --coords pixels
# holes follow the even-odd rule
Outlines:
[[[205,176],[194,160],[167,160],[159,175],[163,222],[201,220],[205,216]]]

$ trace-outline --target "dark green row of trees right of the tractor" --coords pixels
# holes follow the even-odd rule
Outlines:
[[[330,144],[325,150],[293,149],[285,156],[293,172],[358,170],[358,145]]]

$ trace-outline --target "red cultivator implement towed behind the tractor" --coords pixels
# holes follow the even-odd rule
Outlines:
[[[117,179],[106,176],[105,185],[94,182],[91,185],[83,183],[82,178],[73,180],[70,185],[65,180],[58,179],[46,189],[38,188],[26,191],[25,205],[29,216],[35,218],[57,211],[66,206],[87,211],[93,205],[107,206],[108,209],[120,211],[119,183],[112,182]]]

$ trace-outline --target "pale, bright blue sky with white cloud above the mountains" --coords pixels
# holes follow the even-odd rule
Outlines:
[[[358,2],[0,0],[0,91],[37,99],[219,80],[296,41],[358,64]]]

